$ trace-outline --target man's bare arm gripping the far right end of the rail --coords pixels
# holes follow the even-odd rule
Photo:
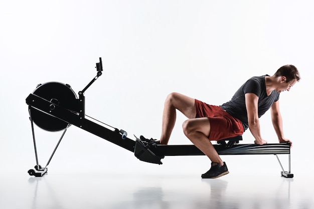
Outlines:
[[[279,100],[272,104],[270,108],[270,113],[272,125],[274,126],[279,142],[290,142],[292,146],[292,142],[289,139],[284,138],[283,136],[282,118],[279,110]]]

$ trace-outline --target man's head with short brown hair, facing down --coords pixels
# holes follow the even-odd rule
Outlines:
[[[274,76],[279,82],[276,88],[279,93],[289,91],[290,88],[301,79],[298,70],[293,65],[284,65],[280,67]]]

